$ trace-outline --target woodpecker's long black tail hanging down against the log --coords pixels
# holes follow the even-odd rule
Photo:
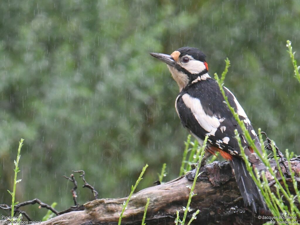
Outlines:
[[[229,162],[231,168],[234,170],[238,189],[241,192],[245,205],[250,205],[254,212],[256,212],[257,206],[266,209],[262,194],[248,173],[245,162],[241,158],[235,157]]]

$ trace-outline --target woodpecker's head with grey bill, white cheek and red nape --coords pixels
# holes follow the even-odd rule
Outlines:
[[[150,55],[167,64],[180,91],[192,82],[209,77],[206,56],[197,48],[182,47],[171,55],[161,53]]]

